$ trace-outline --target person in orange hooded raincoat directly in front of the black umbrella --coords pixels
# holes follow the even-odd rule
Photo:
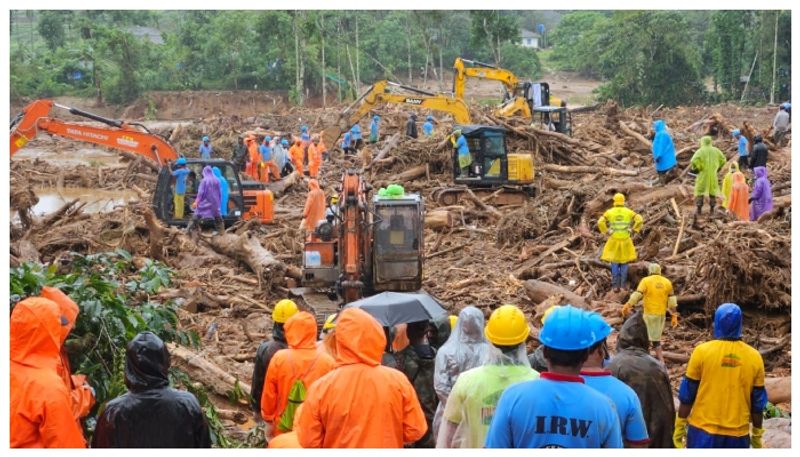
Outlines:
[[[401,448],[428,426],[414,387],[381,365],[386,336],[364,310],[336,321],[336,369],[308,391],[297,438],[304,448]]]

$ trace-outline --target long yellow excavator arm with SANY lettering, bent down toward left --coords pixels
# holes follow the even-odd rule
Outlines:
[[[460,98],[434,94],[416,87],[382,80],[373,84],[361,97],[345,108],[339,114],[339,119],[337,119],[335,126],[329,127],[322,132],[322,139],[325,144],[331,146],[336,144],[339,136],[369,114],[370,110],[386,103],[402,103],[449,113],[458,124],[468,124],[470,122],[469,108]]]

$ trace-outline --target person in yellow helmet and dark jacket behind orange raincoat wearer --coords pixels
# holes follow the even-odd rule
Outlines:
[[[281,349],[286,349],[286,334],[283,326],[290,317],[298,312],[295,302],[284,298],[275,304],[272,309],[272,340],[264,341],[256,350],[256,359],[253,365],[253,378],[250,383],[250,408],[256,417],[256,421],[261,421],[261,394],[264,389],[264,378],[267,376],[272,357]]]

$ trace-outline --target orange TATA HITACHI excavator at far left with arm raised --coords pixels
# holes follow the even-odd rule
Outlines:
[[[100,122],[108,127],[67,122],[50,117],[53,108]],[[40,132],[126,151],[158,163],[162,168],[158,174],[155,192],[153,192],[153,208],[156,217],[169,225],[183,226],[189,222],[188,218],[176,219],[173,216],[174,184],[171,165],[178,159],[179,154],[165,138],[150,132],[143,124],[109,119],[78,108],[60,105],[52,100],[36,100],[26,106],[11,121],[11,156],[36,138]],[[222,159],[186,159],[186,166],[190,171],[189,183],[191,183],[190,186],[187,186],[188,198],[185,201],[187,214],[191,211],[192,197],[197,192],[198,178],[202,176],[203,168],[206,165],[218,167],[228,181],[230,189],[228,215],[223,216],[226,225],[231,225],[239,219],[258,219],[263,223],[272,222],[272,192],[265,189],[263,183],[240,180],[234,165]]]

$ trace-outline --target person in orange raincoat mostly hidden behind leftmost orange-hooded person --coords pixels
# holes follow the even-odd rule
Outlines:
[[[59,366],[59,375],[61,375],[61,379],[64,380],[64,385],[70,390],[72,414],[75,416],[75,420],[78,421],[78,425],[80,425],[80,420],[86,417],[92,409],[92,406],[94,406],[94,392],[86,380],[86,375],[72,374],[67,348],[64,347],[69,332],[75,327],[79,308],[71,298],[55,287],[42,287],[42,292],[39,296],[52,300],[57,304],[61,315],[67,319],[67,324],[61,327],[61,364]]]

